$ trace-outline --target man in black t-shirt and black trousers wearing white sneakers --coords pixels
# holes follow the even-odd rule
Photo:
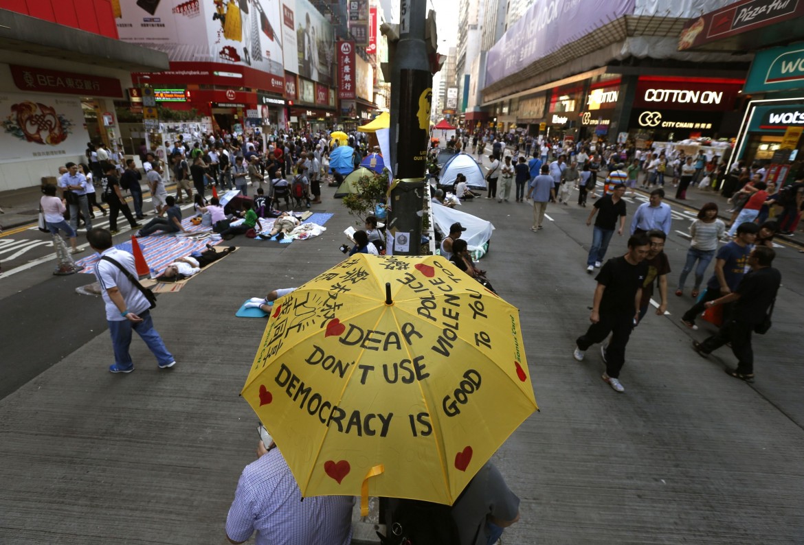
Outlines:
[[[576,340],[576,360],[584,359],[584,352],[593,344],[601,343],[612,333],[608,346],[601,349],[605,363],[603,380],[616,392],[624,392],[620,384],[620,369],[626,361],[626,344],[631,330],[638,323],[638,308],[642,299],[642,285],[648,272],[645,258],[650,251],[650,240],[644,234],[628,239],[628,253],[609,259],[597,274],[597,288],[589,321],[592,325]]]

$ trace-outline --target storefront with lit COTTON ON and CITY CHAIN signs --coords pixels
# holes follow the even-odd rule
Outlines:
[[[678,141],[733,136],[743,79],[639,76],[629,117],[630,136]]]

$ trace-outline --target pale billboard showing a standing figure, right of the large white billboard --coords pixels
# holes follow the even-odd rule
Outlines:
[[[335,52],[330,22],[307,0],[281,0],[281,4],[285,70],[331,85]]]

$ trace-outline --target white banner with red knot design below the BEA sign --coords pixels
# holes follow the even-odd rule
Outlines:
[[[84,156],[89,135],[78,97],[3,93],[0,120],[0,161]]]

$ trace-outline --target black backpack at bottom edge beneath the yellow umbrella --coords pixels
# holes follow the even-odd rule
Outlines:
[[[388,537],[377,532],[382,545],[460,545],[452,506],[398,499],[391,511]]]

